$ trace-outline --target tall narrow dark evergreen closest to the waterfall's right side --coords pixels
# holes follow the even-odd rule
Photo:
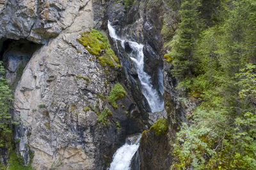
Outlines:
[[[198,0],[184,0],[181,4],[179,29],[172,41],[173,75],[184,80],[193,71],[193,48],[198,33]]]

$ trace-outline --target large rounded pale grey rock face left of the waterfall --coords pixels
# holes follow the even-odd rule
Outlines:
[[[17,148],[26,164],[29,150],[35,154],[32,160],[35,169],[105,169],[113,150],[125,139],[128,121],[125,111],[134,107],[131,96],[127,92],[118,101],[118,110],[100,97],[108,96],[120,69],[100,66],[98,59],[76,40],[96,23],[93,5],[97,4],[93,1],[49,3],[49,10],[55,10],[49,12],[53,25],[47,31],[58,32],[51,29],[58,29],[54,23],[62,25],[64,30],[44,34],[47,36],[44,39],[52,34],[56,38],[33,53],[15,90],[13,114],[22,122],[15,127],[15,139],[20,139]],[[40,25],[34,31],[44,32]],[[120,103],[124,103],[122,107]],[[113,113],[107,126],[97,122],[104,108]],[[120,122],[120,127],[116,122]]]

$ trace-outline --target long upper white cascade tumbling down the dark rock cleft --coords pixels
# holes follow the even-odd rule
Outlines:
[[[132,59],[132,61],[134,62],[134,65],[136,67],[136,71],[138,73],[138,77],[139,77],[139,80],[140,80],[140,83],[141,83],[141,92],[145,96],[145,98],[147,99],[152,113],[164,110],[164,101],[163,101],[163,99],[160,98],[157,90],[154,89],[150,76],[143,70],[143,68],[144,68],[143,46],[144,45],[141,45],[141,44],[136,43],[134,41],[128,41],[128,40],[124,40],[122,38],[119,38],[116,35],[115,29],[112,27],[110,22],[108,22],[108,30],[109,30],[109,35],[112,38],[118,39],[122,42],[123,48],[125,48],[125,46],[124,46],[125,41],[127,41],[129,43],[129,46],[132,48],[132,52],[128,53],[128,55]],[[161,73],[161,74],[163,76],[163,73]],[[159,76],[159,73],[158,73],[158,76]],[[161,75],[159,77],[160,77],[159,80],[161,80]],[[160,84],[162,86],[159,86],[159,87],[163,88],[163,78],[162,78],[161,81],[162,82]],[[162,91],[162,89],[160,89],[160,90]]]

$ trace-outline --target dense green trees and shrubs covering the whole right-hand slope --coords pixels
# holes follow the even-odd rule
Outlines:
[[[214,6],[211,15],[221,17],[209,17],[212,21],[207,23],[211,27],[201,25],[199,35],[191,36],[193,43],[191,39],[180,41],[180,29],[184,29],[180,27],[172,40],[173,51],[168,54],[174,66],[173,74],[181,80],[177,88],[198,103],[188,115],[189,124],[183,124],[177,132],[173,145],[176,161],[172,167],[255,169],[256,2],[220,1]],[[202,8],[207,10],[205,6],[198,10]],[[200,16],[195,15],[197,25],[202,24]],[[190,50],[186,50],[190,52],[186,55],[190,58],[185,60],[188,64],[179,57],[182,50],[177,47],[183,45]]]

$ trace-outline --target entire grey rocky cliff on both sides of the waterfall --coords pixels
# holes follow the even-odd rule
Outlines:
[[[164,5],[151,0],[134,1],[129,8],[124,4],[113,0],[0,0],[0,57],[13,90],[12,116],[20,122],[13,127],[15,152],[25,166],[107,169],[125,138],[143,132],[132,169],[170,167],[173,129],[186,118],[173,97],[177,96],[175,79],[163,62]],[[150,106],[128,55],[132,48],[109,36],[108,21],[118,36],[144,45],[144,71],[160,99],[172,101],[165,106],[167,116],[163,110],[148,118]],[[86,38],[93,41],[91,46],[78,41],[88,32],[107,39],[97,37],[96,43],[108,44],[108,50],[92,46],[95,42],[90,36]],[[92,52],[94,47],[99,53]],[[109,53],[117,58],[106,57]],[[162,70],[164,78],[159,76]],[[113,94],[118,96],[114,97],[115,108],[109,101]],[[156,135],[150,126],[163,117],[166,129]]]

